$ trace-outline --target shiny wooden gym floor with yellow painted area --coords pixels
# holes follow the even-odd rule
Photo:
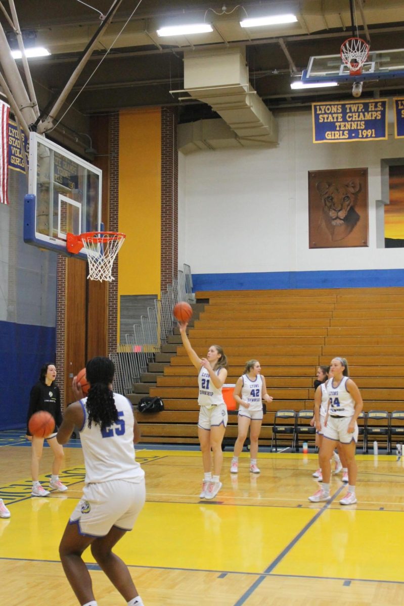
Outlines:
[[[79,441],[66,447],[67,493],[30,496],[30,447],[18,431],[0,433],[0,496],[12,513],[0,519],[0,600],[4,606],[77,602],[64,577],[58,544],[81,496]],[[329,504],[311,504],[315,454],[260,453],[259,476],[249,454],[237,476],[226,451],[223,488],[212,502],[198,498],[197,450],[146,448],[147,502],[135,529],[116,551],[130,567],[146,606],[303,606],[404,604],[404,461],[359,455],[356,505],[343,507],[339,476]],[[45,448],[41,480],[49,480]],[[94,564],[99,606],[124,600]]]

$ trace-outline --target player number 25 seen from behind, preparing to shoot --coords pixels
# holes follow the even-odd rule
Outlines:
[[[83,495],[70,516],[59,545],[67,580],[79,603],[97,606],[92,581],[82,553],[91,547],[129,606],[144,606],[126,564],[113,553],[114,545],[132,530],[146,499],[144,471],[135,459],[133,444],[140,430],[132,404],[112,391],[115,368],[109,358],[93,358],[86,365],[89,395],[73,379],[76,402],[66,409],[58,431],[59,444],[69,441],[79,427],[86,467]]]

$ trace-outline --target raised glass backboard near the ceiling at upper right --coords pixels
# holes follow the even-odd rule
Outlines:
[[[393,50],[370,50],[362,73],[349,75],[340,55],[314,56],[309,59],[307,70],[303,70],[301,81],[306,84],[320,82],[354,82],[404,78],[404,48]]]

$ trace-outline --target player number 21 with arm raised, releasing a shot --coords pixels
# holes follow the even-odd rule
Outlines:
[[[201,499],[213,499],[222,484],[220,472],[223,464],[224,431],[227,426],[227,408],[221,393],[227,377],[227,358],[220,345],[210,345],[206,358],[200,358],[192,349],[186,333],[187,322],[180,322],[180,334],[187,355],[198,371],[198,438],[203,461],[203,482]],[[213,472],[212,456],[213,452]]]

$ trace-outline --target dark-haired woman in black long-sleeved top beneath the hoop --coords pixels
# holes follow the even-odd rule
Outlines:
[[[54,488],[59,492],[67,490],[67,486],[59,480],[59,471],[63,461],[63,447],[56,441],[57,428],[62,423],[62,410],[60,404],[60,391],[58,385],[55,384],[56,368],[55,365],[48,362],[41,368],[39,381],[36,383],[30,393],[30,406],[27,416],[27,425],[33,413],[39,410],[46,410],[53,419],[55,419],[55,428],[52,433],[46,438],[37,438],[30,435],[27,427],[27,439],[32,442],[32,457],[31,457],[31,473],[32,473],[32,496],[49,496],[49,490],[42,488],[39,484],[39,461],[42,457],[42,449],[44,447],[44,439],[48,441],[53,452],[52,478],[50,479],[50,488]]]

